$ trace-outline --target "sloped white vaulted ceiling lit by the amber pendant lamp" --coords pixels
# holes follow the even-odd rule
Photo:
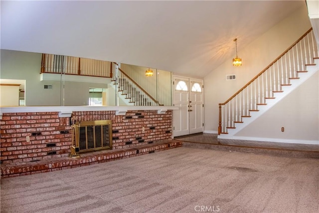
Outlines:
[[[117,61],[202,78],[305,0],[3,1],[1,49]]]

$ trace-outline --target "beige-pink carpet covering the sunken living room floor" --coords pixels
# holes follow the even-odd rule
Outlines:
[[[318,213],[319,160],[176,148],[1,180],[1,213]]]

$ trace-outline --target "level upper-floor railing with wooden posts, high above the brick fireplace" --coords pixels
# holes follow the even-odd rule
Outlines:
[[[96,77],[113,76],[112,63],[65,55],[42,54],[41,73],[63,73]]]

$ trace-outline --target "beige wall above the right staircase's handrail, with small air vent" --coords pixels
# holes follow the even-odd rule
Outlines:
[[[205,76],[204,100],[206,107],[204,109],[204,131],[211,133],[217,132],[218,103],[225,102],[310,28],[311,24],[308,17],[308,11],[306,6],[303,6],[289,17],[273,26],[262,36],[252,41],[245,48],[238,49],[238,56],[243,60],[243,65],[241,67],[233,67],[231,63],[232,58],[229,58],[226,62]],[[240,37],[238,37],[238,43],[239,42]],[[235,74],[236,80],[226,81],[225,78],[228,74]],[[311,93],[311,95],[313,96],[312,98],[318,100],[318,93],[317,96],[313,93]],[[299,109],[299,106],[296,108]],[[284,117],[289,116],[289,114],[284,115],[284,108],[281,108],[281,110],[283,111]],[[300,110],[297,110],[296,116],[300,116],[301,113]],[[287,117],[287,119],[289,119],[289,117]],[[305,122],[310,123],[311,121]],[[318,132],[318,129],[313,130]],[[258,131],[262,132],[263,130]],[[271,137],[271,135],[268,135],[267,137]]]

